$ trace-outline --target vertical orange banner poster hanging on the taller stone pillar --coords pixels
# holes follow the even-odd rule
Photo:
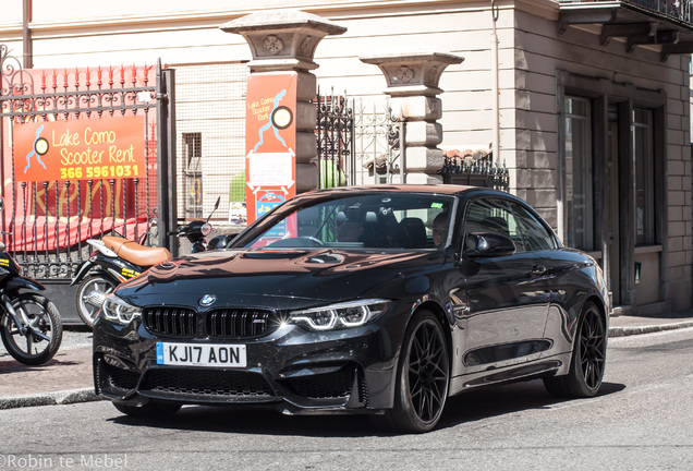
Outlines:
[[[245,107],[248,224],[296,193],[296,72],[251,74]],[[285,222],[272,238],[285,235]]]

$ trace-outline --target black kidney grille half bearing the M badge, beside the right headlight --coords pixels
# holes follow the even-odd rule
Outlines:
[[[210,337],[258,337],[273,331],[277,316],[271,311],[223,309],[210,311],[205,323]]]

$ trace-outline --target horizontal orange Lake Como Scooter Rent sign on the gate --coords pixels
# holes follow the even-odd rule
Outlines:
[[[143,178],[144,116],[42,121],[13,128],[16,181]]]

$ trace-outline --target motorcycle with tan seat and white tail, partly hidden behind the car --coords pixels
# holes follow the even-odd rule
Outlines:
[[[205,251],[207,247],[205,238],[211,232],[209,218],[219,207],[219,202],[220,198],[217,198],[215,208],[207,220],[190,221],[169,233],[186,238],[192,244],[192,253]],[[156,221],[156,213],[154,221]],[[145,238],[149,235],[150,228],[147,229]],[[80,266],[70,286],[80,283],[75,294],[77,314],[89,327],[94,326],[96,315],[106,297],[120,283],[171,258],[171,253],[166,247],[146,246],[118,235],[104,235],[100,240],[87,239],[86,242],[95,251]]]

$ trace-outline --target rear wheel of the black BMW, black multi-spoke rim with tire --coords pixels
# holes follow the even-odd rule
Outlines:
[[[580,315],[570,370],[564,376],[544,378],[548,392],[559,398],[596,396],[604,378],[606,343],[601,312],[594,302],[588,301]]]

